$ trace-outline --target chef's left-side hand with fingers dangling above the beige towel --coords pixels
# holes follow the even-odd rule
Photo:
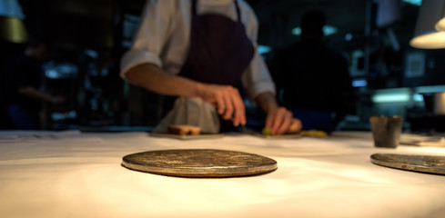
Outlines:
[[[246,124],[246,107],[238,89],[231,85],[206,84],[201,98],[217,106],[217,114],[234,126]]]

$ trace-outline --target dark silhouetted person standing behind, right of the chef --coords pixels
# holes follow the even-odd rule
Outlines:
[[[301,40],[279,51],[271,72],[284,106],[303,130],[332,132],[354,109],[346,58],[324,42],[326,15],[318,10],[301,19]]]

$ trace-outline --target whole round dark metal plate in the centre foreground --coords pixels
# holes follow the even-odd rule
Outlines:
[[[161,150],[128,154],[128,169],[182,177],[232,177],[268,173],[277,162],[258,154],[215,149]]]

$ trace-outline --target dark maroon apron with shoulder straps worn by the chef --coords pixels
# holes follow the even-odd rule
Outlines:
[[[179,75],[207,84],[240,87],[241,75],[250,64],[254,46],[241,23],[238,1],[237,21],[225,15],[197,15],[197,0],[192,0],[190,48]],[[171,107],[170,107],[171,108]],[[221,121],[221,132],[233,131],[231,121]]]

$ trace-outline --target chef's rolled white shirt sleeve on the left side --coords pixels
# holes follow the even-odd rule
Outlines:
[[[160,58],[167,39],[175,25],[173,0],[148,0],[141,15],[141,23],[131,48],[122,56],[121,77],[138,64],[156,64],[162,67]]]

